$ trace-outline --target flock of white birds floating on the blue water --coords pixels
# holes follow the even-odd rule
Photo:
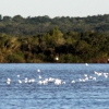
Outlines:
[[[88,65],[88,64],[86,64],[86,65]],[[41,71],[38,69],[37,73],[39,73],[39,72],[41,72]],[[21,77],[20,74],[17,74],[16,76],[17,76],[17,83],[19,84],[22,84],[22,83],[32,84],[32,83],[36,82],[35,78],[27,78],[27,77],[25,77],[24,80],[20,80],[20,77]],[[78,78],[76,81],[72,80],[71,84],[74,84],[76,82],[96,81],[100,76],[105,77],[105,78],[108,78],[109,73],[94,71],[93,76],[88,75],[88,74],[84,74],[83,78]],[[7,84],[10,85],[11,82],[12,82],[12,80],[8,77],[7,78]],[[61,80],[61,78],[53,78],[53,77],[44,78],[41,75],[38,75],[38,82],[37,82],[38,85],[48,85],[49,83],[53,83],[55,85],[66,84],[66,82]]]

